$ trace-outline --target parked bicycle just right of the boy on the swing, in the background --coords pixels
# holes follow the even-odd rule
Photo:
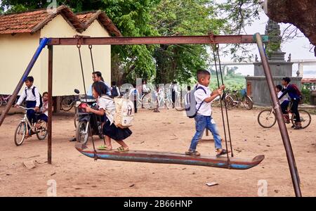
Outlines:
[[[240,91],[242,98],[239,98],[237,92],[238,91],[234,90],[232,91],[232,94],[227,94],[225,96],[227,108],[231,110],[235,107],[239,107],[240,104],[242,104],[244,108],[251,110],[254,107],[254,102],[249,96],[247,96],[246,89],[242,89]]]

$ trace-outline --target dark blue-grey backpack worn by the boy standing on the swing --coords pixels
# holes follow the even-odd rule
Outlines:
[[[187,117],[194,118],[197,115],[197,112],[201,108],[204,101],[199,105],[199,108],[197,108],[197,101],[195,100],[195,91],[202,89],[204,93],[206,94],[206,90],[203,87],[195,87],[194,90],[189,91],[185,95],[185,113],[187,114]]]

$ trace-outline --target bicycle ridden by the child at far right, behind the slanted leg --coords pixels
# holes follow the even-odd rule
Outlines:
[[[289,108],[291,108],[291,105],[292,103],[290,103]],[[294,123],[296,122],[295,114],[291,111],[291,109],[289,109],[287,112],[287,115],[283,115],[284,122],[294,125]],[[304,129],[308,127],[310,125],[310,122],[312,121],[310,113],[302,109],[298,109],[298,113],[300,113],[302,128]],[[291,115],[291,118],[289,118],[289,115]],[[275,110],[273,108],[262,110],[261,113],[259,113],[258,115],[258,123],[261,125],[261,127],[273,127],[273,125],[275,125],[275,122],[277,122],[277,117],[275,117]]]

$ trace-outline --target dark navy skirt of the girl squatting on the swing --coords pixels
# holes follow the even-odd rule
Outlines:
[[[116,127],[115,124],[111,124],[110,121],[107,120],[107,118],[105,121],[106,122],[103,125],[103,134],[105,136],[109,136],[115,141],[123,141],[124,139],[127,139],[129,136],[131,136],[131,134],[133,134],[133,132],[131,132],[129,128],[121,129],[120,127]]]

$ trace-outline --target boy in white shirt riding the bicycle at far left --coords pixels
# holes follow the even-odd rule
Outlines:
[[[35,112],[39,111],[39,106],[41,104],[41,98],[39,96],[39,90],[37,87],[34,87],[34,77],[29,76],[25,80],[25,91],[22,92],[18,103],[15,104],[15,107],[19,107],[23,101],[26,103],[27,108],[34,108],[34,110],[27,110],[27,118],[31,124],[36,122]]]

